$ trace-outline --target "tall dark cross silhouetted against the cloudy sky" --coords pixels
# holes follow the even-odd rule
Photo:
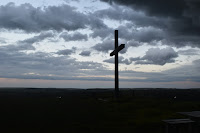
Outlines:
[[[115,30],[115,50],[110,53],[110,56],[115,55],[115,96],[119,98],[119,72],[118,72],[118,52],[125,47],[125,44],[118,46],[118,30]]]

